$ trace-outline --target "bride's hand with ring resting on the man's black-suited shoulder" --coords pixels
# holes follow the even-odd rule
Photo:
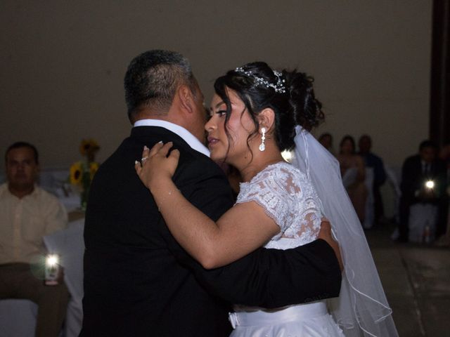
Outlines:
[[[138,173],[143,185],[146,185],[150,191],[156,184],[163,183],[165,180],[172,180],[176,166],[180,157],[179,150],[169,150],[173,143],[156,143],[151,149],[144,147],[141,161],[135,161],[134,169]]]

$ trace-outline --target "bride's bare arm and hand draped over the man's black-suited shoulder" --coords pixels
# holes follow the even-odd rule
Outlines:
[[[176,241],[203,267],[210,269],[238,260],[280,231],[254,201],[237,204],[214,223],[186,200],[172,181],[179,152],[173,150],[166,158],[172,144],[155,147],[150,152],[144,150],[143,157],[149,159],[142,167],[136,164],[136,171],[152,192]]]

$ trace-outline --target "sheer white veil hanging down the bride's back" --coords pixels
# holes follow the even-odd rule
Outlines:
[[[339,162],[301,126],[292,164],[306,173],[340,244],[344,271],[339,298],[328,309],[347,337],[398,336],[366,237],[345,187]]]

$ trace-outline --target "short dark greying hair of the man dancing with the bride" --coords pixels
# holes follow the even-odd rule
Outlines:
[[[131,60],[124,78],[128,117],[142,107],[150,107],[158,114],[169,110],[176,88],[185,84],[195,95],[195,77],[187,58],[174,51],[153,50]]]

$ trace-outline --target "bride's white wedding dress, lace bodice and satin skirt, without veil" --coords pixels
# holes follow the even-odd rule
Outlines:
[[[240,184],[236,203],[255,201],[275,220],[281,232],[264,246],[290,249],[314,241],[321,226],[321,201],[304,173],[278,162]],[[266,310],[235,305],[230,313],[231,337],[342,337],[326,301]]]

